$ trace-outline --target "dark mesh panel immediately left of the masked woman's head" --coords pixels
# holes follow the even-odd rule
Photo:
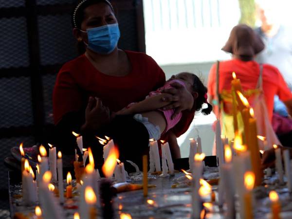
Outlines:
[[[70,15],[39,16],[38,28],[42,65],[64,63],[77,56]]]

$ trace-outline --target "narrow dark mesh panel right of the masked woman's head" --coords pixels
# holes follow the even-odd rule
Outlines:
[[[136,12],[134,10],[119,11],[118,21],[121,31],[119,48],[138,51]]]

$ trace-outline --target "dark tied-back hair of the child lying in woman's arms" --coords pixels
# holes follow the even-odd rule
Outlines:
[[[194,106],[193,108],[195,111],[201,110],[201,112],[204,115],[208,115],[212,112],[213,107],[211,104],[208,103],[207,101],[207,92],[208,89],[204,86],[200,78],[196,74],[192,74],[194,76],[194,86],[193,86],[193,91],[198,93],[197,99],[194,100]],[[202,109],[203,104],[207,104],[208,107],[205,109]]]

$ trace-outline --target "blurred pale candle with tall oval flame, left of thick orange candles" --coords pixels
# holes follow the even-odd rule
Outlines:
[[[232,169],[232,151],[229,145],[224,146],[225,163],[222,164],[222,175],[220,181],[224,184],[224,193],[227,202],[227,218],[235,218],[235,199],[234,199],[234,183],[233,183],[233,169]]]

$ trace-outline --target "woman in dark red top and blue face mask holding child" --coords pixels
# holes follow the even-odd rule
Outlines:
[[[73,130],[82,132],[83,136],[89,135],[109,123],[110,112],[143,100],[149,91],[165,82],[164,72],[150,56],[117,48],[120,32],[108,0],[82,0],[75,7],[72,21],[73,34],[85,45],[86,52],[66,63],[55,83],[53,110],[57,145],[64,153],[76,148]],[[176,137],[187,130],[194,116],[191,93],[180,84],[173,84],[173,87],[164,91],[171,95],[162,100],[171,102],[166,109],[175,108],[175,114],[183,111],[183,119],[168,135],[172,146],[177,145]],[[88,106],[91,96],[98,99]],[[87,120],[86,108],[89,110]],[[134,138],[129,136],[132,140],[129,142],[136,141],[133,147],[137,147],[139,139]],[[84,142],[85,147],[94,147],[94,138],[88,139],[91,140]],[[146,147],[146,141],[142,147]],[[135,151],[131,155],[136,156]]]

